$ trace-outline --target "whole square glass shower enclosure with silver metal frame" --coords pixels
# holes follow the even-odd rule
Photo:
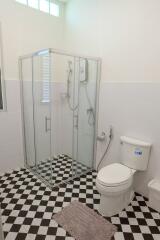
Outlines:
[[[100,59],[46,49],[19,63],[26,167],[49,187],[93,169]]]

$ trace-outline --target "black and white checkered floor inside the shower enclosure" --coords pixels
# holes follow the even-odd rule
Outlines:
[[[44,160],[32,170],[38,173],[42,178],[54,186],[66,181],[75,175],[81,175],[90,170],[84,164],[72,160],[67,155],[59,155],[52,160]]]

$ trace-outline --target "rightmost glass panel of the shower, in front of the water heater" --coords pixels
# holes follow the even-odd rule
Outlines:
[[[77,58],[75,68],[75,101],[78,108],[74,112],[73,156],[76,159],[74,175],[93,168],[95,156],[96,96],[98,62]]]

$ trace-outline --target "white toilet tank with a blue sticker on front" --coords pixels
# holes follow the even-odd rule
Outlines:
[[[138,139],[122,136],[121,162],[123,165],[140,171],[147,169],[151,143]]]

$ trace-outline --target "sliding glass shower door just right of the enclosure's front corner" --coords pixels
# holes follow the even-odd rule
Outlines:
[[[75,59],[51,54],[52,185],[72,178]]]

